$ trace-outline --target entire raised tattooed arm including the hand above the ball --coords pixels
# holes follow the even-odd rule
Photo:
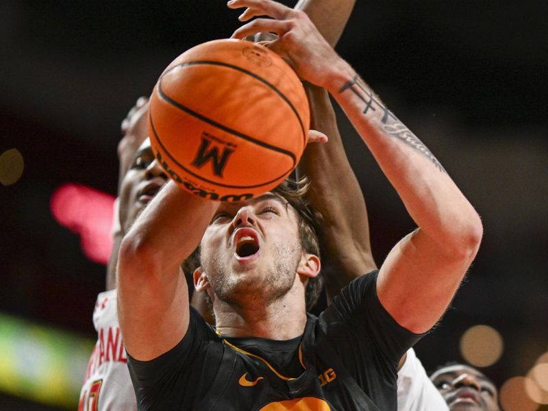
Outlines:
[[[258,18],[234,36],[278,35],[268,47],[290,58],[303,79],[329,90],[419,226],[388,254],[377,294],[400,325],[426,332],[449,305],[477,253],[482,237],[479,216],[434,155],[335,53],[306,14],[273,1],[228,4],[273,17]]]

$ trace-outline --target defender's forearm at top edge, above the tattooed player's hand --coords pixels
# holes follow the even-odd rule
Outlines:
[[[347,24],[356,0],[299,0],[295,8],[306,12],[320,34],[334,47]]]

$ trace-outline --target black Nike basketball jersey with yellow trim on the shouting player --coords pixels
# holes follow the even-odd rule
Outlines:
[[[397,363],[420,336],[382,308],[375,280],[349,284],[286,341],[223,337],[191,310],[179,345],[129,358],[139,409],[395,411]]]

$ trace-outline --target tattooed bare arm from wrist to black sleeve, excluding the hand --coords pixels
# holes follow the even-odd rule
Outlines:
[[[479,216],[434,155],[346,65],[329,84],[419,226],[388,253],[379,301],[403,327],[430,329],[445,312],[482,238]]]

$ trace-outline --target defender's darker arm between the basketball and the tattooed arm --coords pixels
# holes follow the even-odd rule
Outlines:
[[[311,128],[329,136],[325,144],[309,145],[299,172],[310,179],[307,199],[323,216],[324,266],[334,268],[325,278],[327,296],[376,268],[369,242],[369,221],[364,197],[354,175],[336,124],[329,95],[323,88],[306,86],[310,100]]]

